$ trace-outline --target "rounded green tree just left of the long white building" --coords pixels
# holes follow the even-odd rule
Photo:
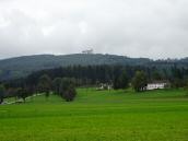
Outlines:
[[[132,79],[132,86],[136,90],[136,92],[142,92],[145,90],[148,80],[146,75],[143,71],[138,71]]]

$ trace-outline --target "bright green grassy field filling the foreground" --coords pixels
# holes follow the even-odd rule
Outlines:
[[[188,94],[79,89],[0,106],[0,141],[188,141]]]

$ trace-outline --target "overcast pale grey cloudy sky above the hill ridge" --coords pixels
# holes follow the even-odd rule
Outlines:
[[[188,0],[0,0],[0,59],[87,48],[188,57]]]

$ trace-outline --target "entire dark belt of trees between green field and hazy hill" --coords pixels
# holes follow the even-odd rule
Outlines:
[[[173,66],[169,69],[131,66],[72,66],[37,71],[24,79],[2,82],[0,102],[5,96],[25,97],[34,93],[57,94],[70,102],[77,95],[75,86],[113,84],[114,89],[126,89],[130,84],[137,92],[144,91],[148,82],[169,81],[173,87],[188,87],[188,69]],[[4,93],[5,91],[5,93]]]

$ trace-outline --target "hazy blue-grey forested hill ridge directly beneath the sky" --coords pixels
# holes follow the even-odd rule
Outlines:
[[[117,55],[102,54],[73,54],[73,55],[35,55],[23,56],[0,60],[0,80],[17,79],[27,74],[58,67],[68,66],[98,66],[98,64],[121,64],[121,66],[145,66],[165,67],[172,64],[188,67],[188,58],[179,60],[151,60],[149,58],[128,58]]]

